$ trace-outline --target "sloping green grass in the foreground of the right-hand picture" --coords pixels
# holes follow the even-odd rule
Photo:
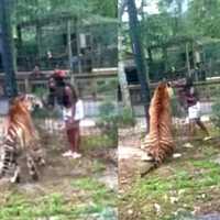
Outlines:
[[[144,178],[136,177],[121,195],[121,219],[129,219],[128,210],[133,210],[136,219],[180,220],[189,217],[195,206],[212,201],[220,207],[220,165],[211,161],[218,153],[219,148],[196,142],[182,158],[170,160]],[[155,212],[154,204],[160,205],[161,212]]]

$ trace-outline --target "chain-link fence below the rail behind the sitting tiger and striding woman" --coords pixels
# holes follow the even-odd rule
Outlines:
[[[151,96],[153,95],[157,84],[151,85]],[[200,120],[207,127],[211,135],[218,135],[219,120],[220,120],[220,81],[219,80],[208,80],[201,82],[195,82],[195,88],[199,96],[200,102]],[[189,132],[189,119],[188,110],[186,106],[183,105],[184,97],[179,96],[179,90],[183,88],[174,88],[174,96],[172,98],[172,119],[175,139],[188,139]],[[144,128],[145,118],[144,109],[141,101],[141,94],[139,86],[130,87],[133,111],[134,116],[138,118],[139,127]],[[143,124],[144,123],[144,124]],[[195,139],[205,136],[206,134],[199,127],[195,129]]]

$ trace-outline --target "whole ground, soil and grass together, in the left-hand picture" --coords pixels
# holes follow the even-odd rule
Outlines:
[[[84,220],[117,219],[118,167],[116,146],[90,148],[82,138],[79,160],[62,157],[68,144],[62,132],[41,132],[46,150],[46,165],[41,178],[30,179],[22,161],[19,185],[2,184],[1,220]]]

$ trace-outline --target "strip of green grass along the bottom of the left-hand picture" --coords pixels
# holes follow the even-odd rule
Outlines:
[[[62,191],[51,195],[26,195],[13,190],[4,193],[0,200],[1,220],[35,220],[56,217],[57,220],[78,220],[89,215],[111,215],[117,196],[92,178],[79,178],[70,183],[73,195]],[[79,193],[75,193],[75,191]],[[7,196],[6,196],[7,195]],[[109,210],[109,211],[108,211]]]

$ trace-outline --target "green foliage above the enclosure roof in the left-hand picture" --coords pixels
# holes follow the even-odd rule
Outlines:
[[[15,4],[14,23],[52,19],[62,14],[75,15],[81,19],[91,19],[92,15],[107,18],[117,16],[117,1],[101,0],[20,0]],[[101,19],[99,19],[101,21]]]

